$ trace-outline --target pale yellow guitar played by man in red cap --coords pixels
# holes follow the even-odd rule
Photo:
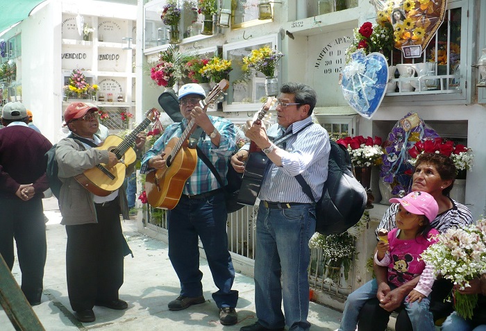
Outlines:
[[[158,117],[158,111],[156,108],[152,108],[146,112],[142,123],[134,128],[125,139],[121,139],[117,135],[109,135],[101,146],[95,147],[115,153],[118,160],[121,160],[115,164],[115,167],[109,168],[106,164],[97,164],[96,167],[87,169],[74,178],[85,189],[97,196],[108,196],[119,189],[125,180],[126,168],[137,160],[137,155],[131,146],[137,139],[137,135],[145,130],[156,117]]]

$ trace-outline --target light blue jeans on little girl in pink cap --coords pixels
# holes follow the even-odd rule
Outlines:
[[[394,288],[392,285],[390,287],[392,289]],[[358,315],[360,314],[362,306],[367,300],[376,298],[377,292],[378,284],[376,283],[376,279],[373,279],[349,294],[346,304],[344,305],[341,325],[338,330],[355,331],[356,325],[358,325]],[[435,330],[432,313],[428,309],[429,303],[430,297],[423,298],[420,303],[418,303],[418,301],[415,301],[414,303],[406,303],[403,301],[403,305],[408,312],[410,321],[412,321],[414,331]]]

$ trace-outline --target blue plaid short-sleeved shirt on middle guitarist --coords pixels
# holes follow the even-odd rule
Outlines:
[[[221,179],[226,185],[228,160],[235,151],[235,126],[227,119],[213,117],[210,115],[208,115],[208,117],[212,122],[212,125],[215,126],[219,132],[219,146],[212,144],[210,137],[205,133],[203,133],[202,137],[199,139],[197,146],[201,148],[201,151],[203,151],[203,153],[208,157],[210,162],[215,165],[219,176],[221,176]],[[187,119],[183,119],[182,123],[185,128],[187,126]],[[183,130],[181,123],[174,123],[167,126],[162,136],[157,139],[152,148],[150,148],[149,151],[147,151],[143,156],[140,173],[150,171],[149,160],[156,155],[160,155],[160,153],[165,150],[165,146],[169,140],[181,137],[182,133]],[[181,151],[178,153],[181,153]],[[198,158],[196,169],[190,178],[186,180],[183,194],[201,194],[217,188],[219,188],[219,183],[217,183],[215,176],[212,175],[212,172],[208,167],[206,167],[206,164],[204,164],[204,162]]]

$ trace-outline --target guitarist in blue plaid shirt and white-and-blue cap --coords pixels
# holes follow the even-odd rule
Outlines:
[[[226,181],[228,158],[235,150],[235,126],[227,119],[206,114],[200,103],[204,98],[206,93],[198,84],[181,87],[178,101],[184,118],[182,122],[168,126],[162,137],[146,152],[142,158],[141,173],[166,167],[164,150],[167,143],[174,137],[181,137],[188,122],[194,119],[203,130],[197,146],[215,166],[221,179]],[[235,307],[238,291],[231,289],[235,269],[228,252],[226,215],[224,191],[210,169],[198,158],[196,169],[185,181],[181,198],[167,214],[169,259],[181,282],[181,294],[169,303],[170,310],[182,310],[205,302],[201,283],[203,273],[199,270],[199,236],[212,279],[219,289],[212,294],[219,308],[219,321],[223,325],[237,323]]]

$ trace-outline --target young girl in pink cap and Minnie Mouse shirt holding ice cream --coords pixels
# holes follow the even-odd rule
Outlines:
[[[433,316],[428,306],[430,291],[435,280],[433,270],[420,259],[422,252],[435,242],[439,234],[430,226],[437,217],[437,202],[426,192],[412,192],[404,198],[392,198],[390,203],[400,203],[396,213],[396,228],[380,240],[376,246],[374,260],[380,266],[388,266],[387,280],[391,289],[400,287],[415,277],[419,283],[405,297],[403,308],[407,310],[413,330],[435,330]],[[358,324],[360,309],[364,303],[378,293],[378,282],[370,280],[348,296],[340,331],[354,331]],[[382,298],[378,298],[382,301]]]

